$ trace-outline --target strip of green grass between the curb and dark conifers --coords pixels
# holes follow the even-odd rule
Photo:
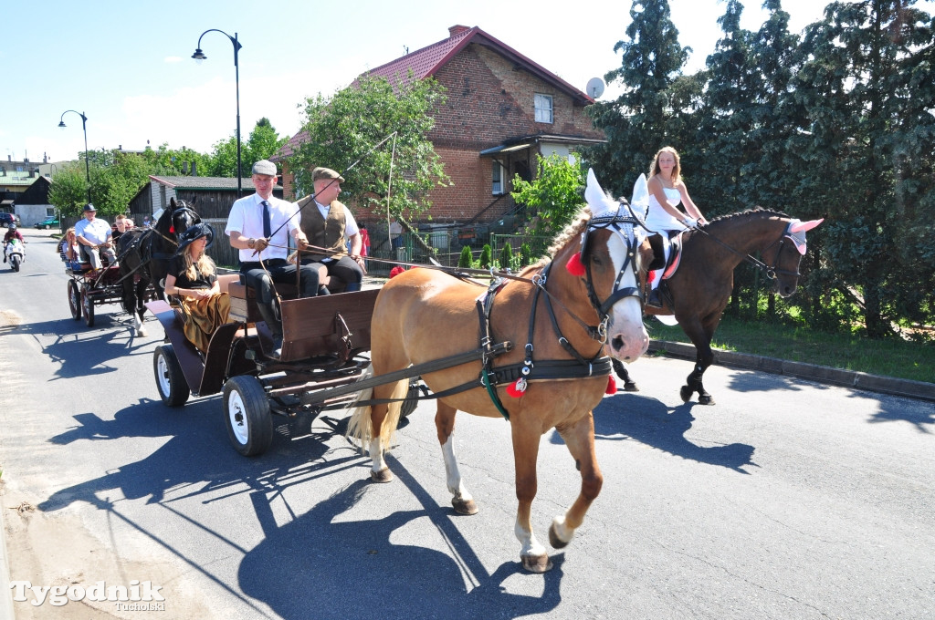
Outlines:
[[[691,343],[679,326],[650,318],[650,338]],[[712,340],[714,348],[768,358],[788,359],[861,373],[935,381],[935,345],[897,340],[870,340],[780,323],[751,323],[724,317]]]

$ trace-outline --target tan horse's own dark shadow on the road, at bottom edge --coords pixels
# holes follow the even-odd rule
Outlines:
[[[557,607],[563,555],[553,556],[553,570],[543,575],[525,573],[518,561],[504,562],[488,573],[455,524],[471,517],[440,507],[396,459],[388,461],[396,473],[393,484],[406,486],[422,509],[399,511],[381,519],[339,519],[374,486],[380,486],[362,480],[277,527],[268,512],[266,495],[254,494],[266,538],[240,564],[243,591],[263,600],[284,618],[473,620],[549,613]],[[396,529],[425,517],[446,542],[447,552],[391,541]],[[297,553],[296,542],[300,542]],[[538,580],[533,589],[541,588],[541,596],[507,592],[503,583],[516,574]],[[469,589],[466,576],[473,585]]]

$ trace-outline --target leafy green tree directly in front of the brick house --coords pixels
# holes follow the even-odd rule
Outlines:
[[[361,77],[330,97],[309,98],[302,131],[308,140],[289,159],[296,193],[311,191],[315,166],[343,172],[341,189],[358,208],[406,218],[427,211],[427,194],[449,182],[428,133],[432,111],[443,106],[444,88],[433,79]],[[395,133],[381,148],[382,140]],[[392,173],[392,176],[391,176]],[[391,186],[392,181],[392,186]],[[387,204],[389,196],[389,204]]]

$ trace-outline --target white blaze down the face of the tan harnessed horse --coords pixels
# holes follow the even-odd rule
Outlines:
[[[620,273],[626,261],[626,242],[622,233],[611,233],[607,249],[611,254],[613,269]],[[634,251],[638,251],[634,248]],[[635,260],[635,257],[634,259]],[[627,265],[624,277],[620,282],[620,289],[627,287],[639,288],[633,270]],[[615,291],[611,291],[615,292]],[[611,321],[607,329],[607,342],[610,345],[611,355],[617,359],[633,362],[649,348],[649,334],[642,322],[642,304],[639,297],[625,297],[614,303],[610,309]]]

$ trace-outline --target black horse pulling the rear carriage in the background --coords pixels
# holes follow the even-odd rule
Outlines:
[[[133,318],[137,335],[146,336],[143,327],[146,289],[152,282],[156,299],[163,299],[165,272],[169,259],[179,247],[178,235],[199,221],[201,218],[185,201],[172,198],[152,228],[132,229],[117,240],[123,309]]]

